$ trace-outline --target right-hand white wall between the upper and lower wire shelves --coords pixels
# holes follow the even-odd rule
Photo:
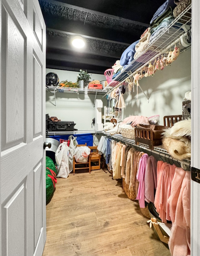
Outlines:
[[[181,53],[171,66],[162,71],[156,71],[153,77],[143,77],[139,84],[143,91],[150,96],[149,103],[138,88],[138,103],[133,90],[124,94],[126,108],[122,118],[129,115],[153,116],[160,115],[160,125],[163,116],[182,115],[182,101],[187,91],[191,90],[191,50]]]

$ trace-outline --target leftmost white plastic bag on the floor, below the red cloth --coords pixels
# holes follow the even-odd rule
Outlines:
[[[55,154],[56,163],[58,164],[57,177],[62,177],[62,178],[68,177],[70,173],[68,156],[69,156],[69,147],[67,143],[63,142],[59,145]]]

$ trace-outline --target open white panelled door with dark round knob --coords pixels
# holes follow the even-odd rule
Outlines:
[[[45,24],[37,0],[0,0],[0,256],[46,239]]]

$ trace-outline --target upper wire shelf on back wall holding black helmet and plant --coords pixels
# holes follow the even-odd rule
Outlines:
[[[107,90],[99,90],[99,89],[88,89],[88,88],[72,88],[72,87],[57,87],[57,86],[49,86],[46,88],[48,92],[51,93],[85,93],[85,94],[105,94]]]

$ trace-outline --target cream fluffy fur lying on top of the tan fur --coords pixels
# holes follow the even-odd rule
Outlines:
[[[171,128],[165,129],[163,137],[181,139],[184,136],[191,136],[191,119],[175,123]]]

